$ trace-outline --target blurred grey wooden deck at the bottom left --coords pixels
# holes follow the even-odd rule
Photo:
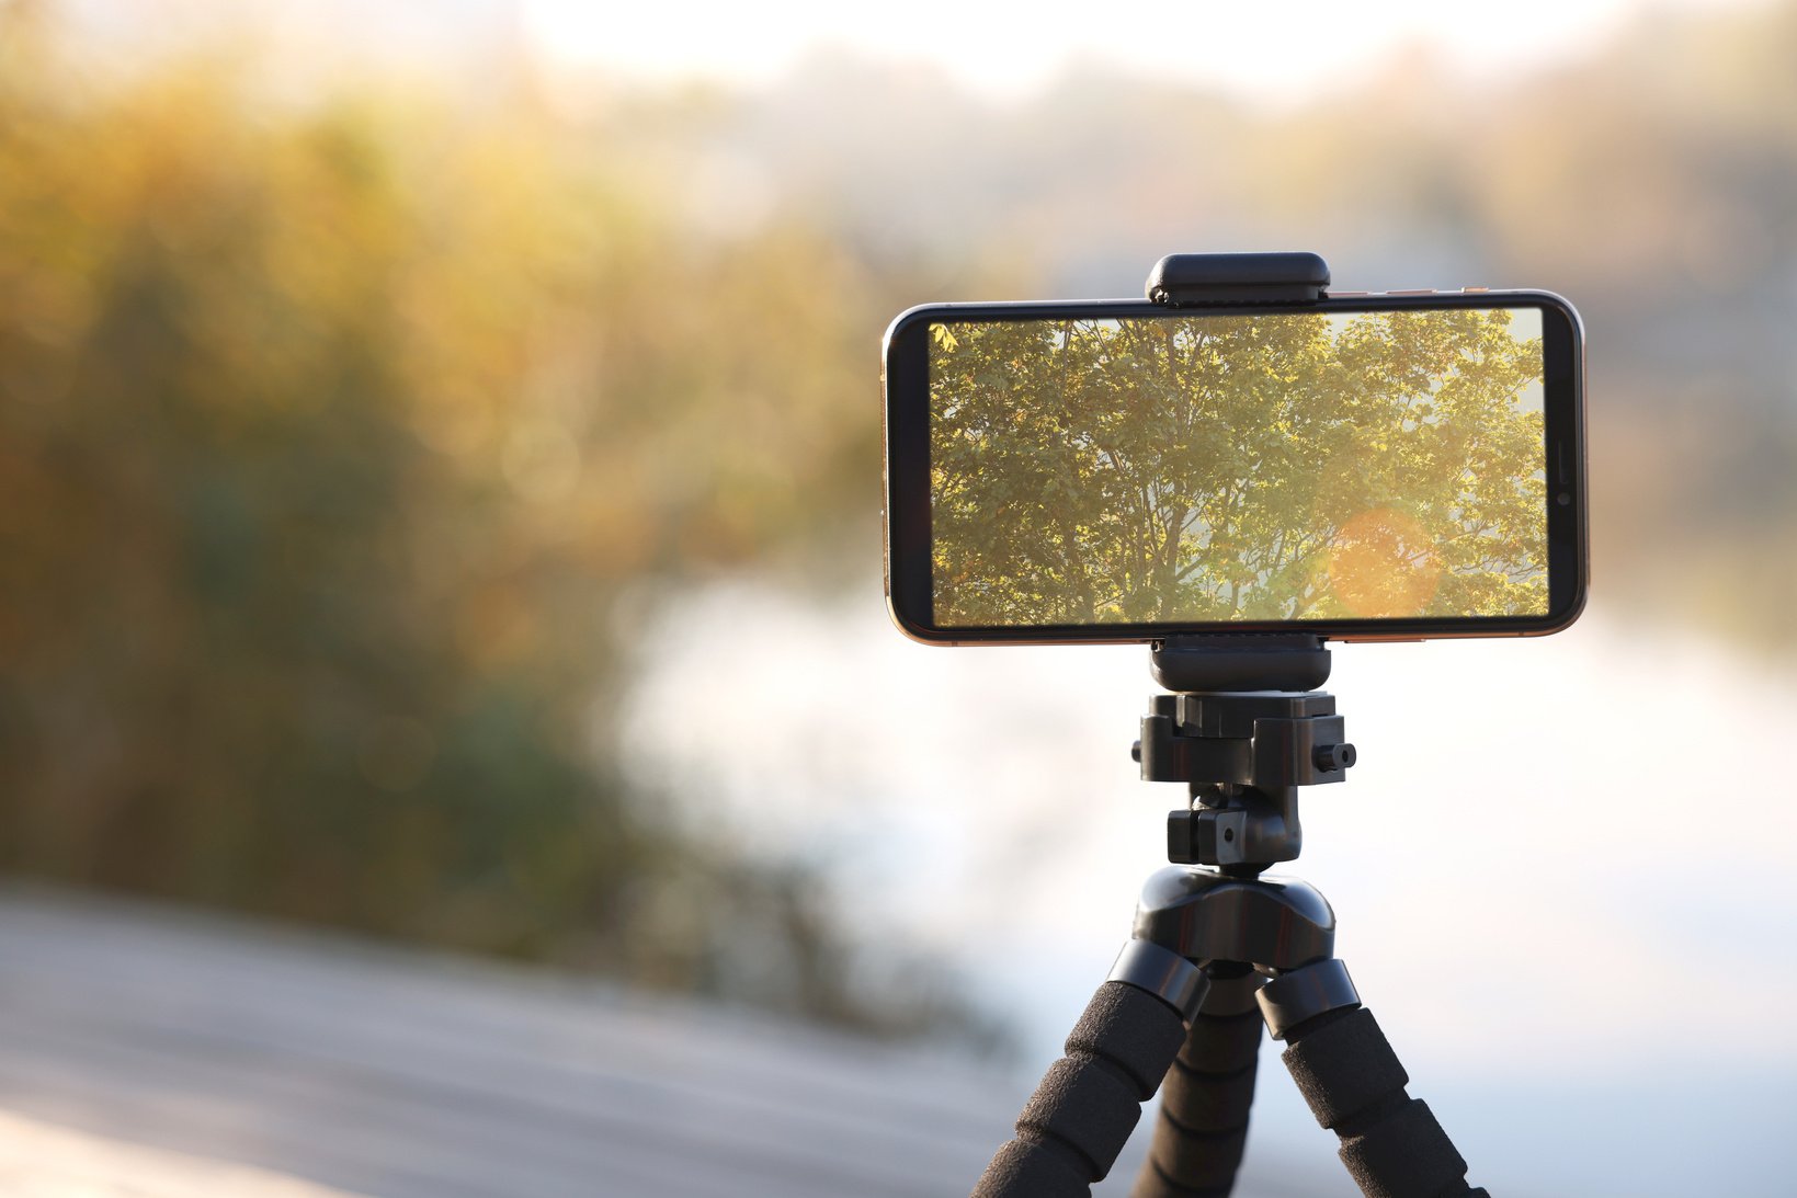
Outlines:
[[[1028,1088],[740,1011],[0,891],[7,1194],[956,1194]]]

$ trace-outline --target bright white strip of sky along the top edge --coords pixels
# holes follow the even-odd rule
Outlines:
[[[527,38],[552,61],[638,79],[760,83],[807,50],[925,61],[994,95],[1022,95],[1069,61],[1164,72],[1244,95],[1303,99],[1421,47],[1493,79],[1580,57],[1633,14],[1739,9],[1757,0],[764,0],[762,4],[591,4],[519,0]]]

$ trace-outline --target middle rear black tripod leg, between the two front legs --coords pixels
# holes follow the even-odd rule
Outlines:
[[[1130,1198],[1224,1198],[1247,1146],[1261,1015],[1261,979],[1211,965],[1209,993],[1161,1083],[1161,1114]]]

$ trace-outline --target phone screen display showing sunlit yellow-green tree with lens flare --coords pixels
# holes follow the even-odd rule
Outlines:
[[[945,627],[1547,609],[1540,313],[931,327]]]

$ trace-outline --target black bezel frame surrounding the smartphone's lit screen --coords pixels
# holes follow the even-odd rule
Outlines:
[[[1229,620],[1103,625],[934,625],[929,507],[929,325],[969,320],[1190,318],[1260,313],[1385,313],[1420,309],[1542,309],[1547,433],[1547,612],[1412,620]],[[893,621],[929,645],[1146,643],[1218,632],[1306,632],[1342,641],[1542,636],[1571,625],[1589,586],[1585,517],[1585,330],[1578,311],[1549,291],[1326,296],[1308,304],[1229,304],[1172,309],[1146,300],[925,304],[900,313],[882,347],[886,397],[886,605]],[[1567,503],[1556,501],[1569,496]]]

